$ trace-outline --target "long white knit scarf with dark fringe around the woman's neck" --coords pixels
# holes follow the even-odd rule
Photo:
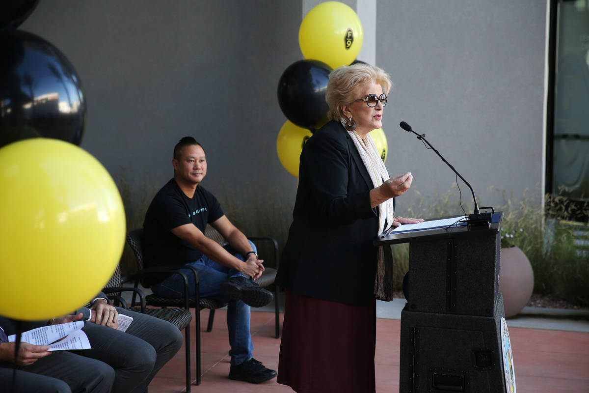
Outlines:
[[[342,126],[346,125],[346,120],[340,119]],[[378,154],[378,148],[368,134],[360,138],[356,130],[348,131],[354,141],[356,150],[362,158],[366,171],[370,175],[370,180],[374,187],[379,187],[385,180],[390,179],[389,172],[386,170],[385,163]],[[381,203],[378,209],[378,234],[385,230],[385,224],[389,227],[393,223],[393,200],[389,199]],[[375,276],[375,295],[380,300],[391,300],[393,298],[393,260],[390,246],[379,246],[376,258],[376,276]]]

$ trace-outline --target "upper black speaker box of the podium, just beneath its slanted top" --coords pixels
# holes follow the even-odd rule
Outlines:
[[[500,234],[466,235],[411,243],[410,311],[495,315]]]

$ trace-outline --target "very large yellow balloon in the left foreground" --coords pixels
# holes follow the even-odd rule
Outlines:
[[[0,315],[38,321],[84,305],[124,239],[123,201],[96,158],[55,139],[0,148]]]

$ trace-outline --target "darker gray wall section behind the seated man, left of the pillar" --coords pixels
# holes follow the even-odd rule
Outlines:
[[[300,9],[290,1],[51,0],[21,29],[74,64],[88,102],[81,146],[112,176],[124,170],[138,189],[163,185],[174,144],[191,135],[207,153],[203,184],[220,200],[286,195],[292,204],[296,179],[276,155],[286,121],[276,89],[301,57]]]

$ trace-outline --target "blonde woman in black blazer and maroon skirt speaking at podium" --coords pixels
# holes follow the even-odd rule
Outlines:
[[[299,393],[375,392],[375,298],[391,298],[392,277],[383,277],[390,249],[372,242],[385,228],[421,221],[393,216],[393,198],[413,177],[389,177],[369,137],[382,127],[390,88],[385,71],[372,65],[332,71],[332,120],[300,156],[276,278],[286,288],[277,382]]]

